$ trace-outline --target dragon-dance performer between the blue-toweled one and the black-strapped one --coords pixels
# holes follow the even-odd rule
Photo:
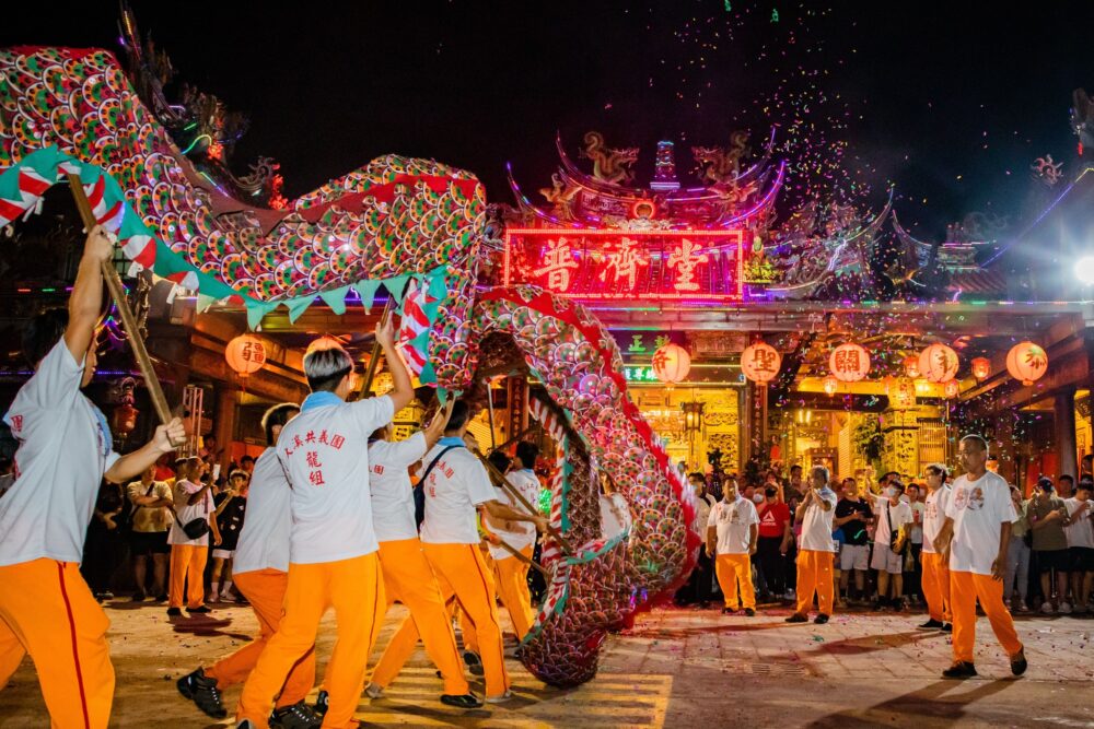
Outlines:
[[[464,678],[452,620],[418,539],[414,486],[410,484],[409,473],[410,467],[420,461],[440,439],[453,404],[438,411],[429,427],[406,440],[393,442],[391,425],[374,433],[369,444],[369,485],[372,491],[372,520],[380,540],[380,565],[384,573],[387,605],[391,607],[398,600],[410,612],[403,622],[417,628],[426,652],[440,670],[444,681],[441,703],[458,708],[477,708],[482,702],[472,693],[467,679]],[[370,697],[379,698],[397,675],[403,661],[385,660],[385,657],[388,651],[401,655],[412,649],[417,640],[409,646],[400,643],[404,638],[409,639],[410,634],[409,631],[397,631],[399,639],[393,638],[387,644],[384,655],[376,662],[372,680],[365,687]]]

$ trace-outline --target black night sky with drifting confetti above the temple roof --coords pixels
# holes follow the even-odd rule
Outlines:
[[[117,49],[110,2],[28,7],[0,44]],[[876,209],[893,183],[901,221],[931,238],[971,211],[1014,220],[1036,157],[1073,164],[1071,92],[1094,91],[1090,1],[133,7],[181,80],[251,117],[237,172],[272,156],[289,197],[395,152],[472,169],[497,202],[512,202],[512,162],[538,199],[556,130],[574,157],[591,129],[639,146],[640,181],[673,140],[694,184],[693,144],[778,124],[784,212],[814,197]]]

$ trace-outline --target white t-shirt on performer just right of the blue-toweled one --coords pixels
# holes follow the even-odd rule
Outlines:
[[[394,542],[418,539],[414,516],[411,465],[426,455],[426,434],[415,433],[406,440],[376,440],[369,446],[369,489],[372,491],[372,524],[376,539]]]

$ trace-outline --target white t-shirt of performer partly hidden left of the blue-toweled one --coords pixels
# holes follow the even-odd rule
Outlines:
[[[277,450],[267,448],[255,461],[247,492],[247,516],[235,548],[232,572],[257,569],[289,572],[289,539],[292,533],[291,490]]]

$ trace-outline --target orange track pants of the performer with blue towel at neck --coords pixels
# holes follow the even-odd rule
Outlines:
[[[313,649],[319,621],[333,607],[338,639],[324,681],[330,694],[330,708],[323,726],[356,727],[353,713],[385,604],[384,580],[375,552],[338,562],[290,564],[284,615],[243,685],[236,718],[251,719],[260,729],[268,726],[274,696],[298,661]]]

